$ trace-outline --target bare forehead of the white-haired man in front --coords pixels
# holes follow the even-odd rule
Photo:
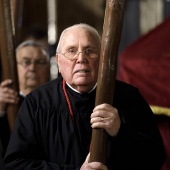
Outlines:
[[[94,33],[85,28],[77,27],[66,30],[60,40],[60,49],[78,45],[100,48],[100,41]]]

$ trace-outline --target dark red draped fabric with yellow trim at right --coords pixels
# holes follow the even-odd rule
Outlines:
[[[170,17],[119,56],[118,79],[139,88],[150,105],[170,108]],[[157,120],[170,170],[170,117]]]

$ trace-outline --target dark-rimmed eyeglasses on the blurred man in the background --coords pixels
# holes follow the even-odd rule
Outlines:
[[[47,64],[47,61],[45,60],[22,60],[20,62],[17,62],[18,64],[22,65],[23,67],[29,67],[31,64],[34,64],[36,67],[42,67]]]

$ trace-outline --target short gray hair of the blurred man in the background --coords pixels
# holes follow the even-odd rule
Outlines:
[[[16,48],[16,53],[19,49],[23,48],[23,47],[27,47],[27,46],[31,46],[31,47],[39,47],[42,50],[42,53],[47,56],[47,59],[50,59],[50,55],[49,55],[49,51],[48,49],[41,43],[35,41],[35,40],[27,40],[22,42],[21,44],[18,45],[18,47]]]

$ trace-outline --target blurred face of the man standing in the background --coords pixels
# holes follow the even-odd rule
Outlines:
[[[20,90],[25,94],[50,78],[49,62],[39,47],[26,46],[17,51]]]

